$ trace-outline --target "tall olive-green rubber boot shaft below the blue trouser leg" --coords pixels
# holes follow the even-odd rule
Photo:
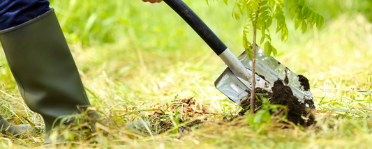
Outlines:
[[[91,105],[53,9],[0,31],[0,41],[24,102],[43,116],[46,132],[59,116]]]

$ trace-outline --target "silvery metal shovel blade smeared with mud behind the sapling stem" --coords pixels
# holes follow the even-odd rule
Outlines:
[[[293,95],[295,95],[299,102],[304,100],[313,100],[312,93],[308,87],[304,88],[299,77],[292,72],[290,69],[282,65],[275,58],[265,55],[265,52],[260,47],[256,47],[256,65],[255,72],[265,79],[266,81],[274,86],[274,81],[281,79],[283,84],[290,86]],[[239,60],[249,70],[252,68],[252,61],[245,52],[242,52],[238,56]],[[261,78],[256,76],[256,80]],[[230,68],[226,68],[225,71],[214,81],[214,86],[221,91],[223,94],[229,97],[230,100],[240,104],[241,99],[246,97],[248,93],[251,93],[251,89],[241,83],[239,79],[231,72]]]

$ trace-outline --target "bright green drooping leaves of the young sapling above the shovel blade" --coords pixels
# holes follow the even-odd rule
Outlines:
[[[208,2],[208,1],[207,1]],[[228,0],[224,0],[228,5]],[[253,27],[253,33],[257,31],[261,32],[261,40],[265,42],[265,54],[270,56],[271,52],[276,55],[277,51],[274,46],[271,45],[271,33],[269,27],[274,19],[276,19],[276,33],[281,31],[281,41],[285,42],[288,38],[288,28],[285,22],[285,15],[283,7],[285,6],[284,1],[274,0],[235,0],[235,7],[232,10],[232,17],[239,20],[240,17],[245,17],[245,24],[243,29],[243,46],[246,49],[249,57],[252,59],[254,47],[252,42],[248,41],[247,34],[250,29],[248,26]],[[305,0],[289,0],[286,3],[288,10],[290,10],[290,18],[295,22],[295,29],[298,29],[301,24],[302,33],[305,33],[308,26],[316,24],[318,29],[322,28],[325,17],[320,13],[316,12],[312,8],[308,7]],[[267,31],[267,32],[266,32]],[[249,36],[250,37],[250,36]],[[256,36],[253,35],[253,45],[256,44]],[[253,49],[251,49],[253,47]],[[254,70],[254,67],[253,67]]]

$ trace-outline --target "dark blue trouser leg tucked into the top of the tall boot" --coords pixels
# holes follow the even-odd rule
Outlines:
[[[0,30],[27,22],[48,10],[47,0],[0,0]]]

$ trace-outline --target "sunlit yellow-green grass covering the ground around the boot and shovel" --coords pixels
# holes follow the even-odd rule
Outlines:
[[[93,134],[79,130],[87,123],[63,128],[61,134],[76,139],[43,146],[43,120],[22,101],[1,54],[1,115],[15,123],[29,120],[40,129],[21,139],[0,137],[0,148],[371,148],[372,25],[362,14],[350,11],[329,17],[322,30],[309,29],[304,35],[288,20],[288,41],[272,36],[276,59],[309,79],[319,112],[318,127],[283,130],[271,124],[255,130],[247,125],[247,116],[232,123],[221,120],[239,111],[213,86],[225,65],[165,3],[51,2],[92,107],[112,123],[96,125]],[[232,19],[230,5],[185,2],[233,53],[243,51],[242,22]],[[177,118],[185,118],[184,109],[166,111],[165,102],[172,105],[188,97],[195,100],[194,108],[209,109],[193,117],[204,124],[191,131],[150,135],[127,129],[128,123],[142,120],[158,122],[146,128],[152,132],[160,131],[161,120],[186,125],[176,123]],[[154,118],[149,116],[154,111],[148,109],[162,109],[168,115]],[[86,140],[91,135],[95,136]]]

